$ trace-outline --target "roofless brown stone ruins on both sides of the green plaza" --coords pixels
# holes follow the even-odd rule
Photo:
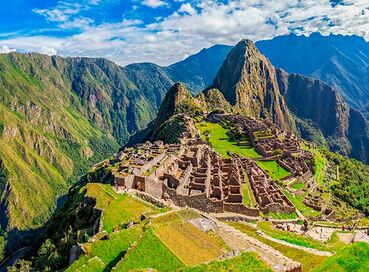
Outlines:
[[[263,160],[277,160],[291,177],[309,180],[308,151],[299,139],[267,121],[228,114],[210,114],[206,120],[231,122],[239,126]],[[180,207],[205,212],[233,212],[247,216],[295,212],[293,203],[279,185],[257,163],[237,154],[219,155],[200,136],[199,131],[182,135],[179,144],[145,142],[117,155],[120,167],[114,173],[117,189],[137,189]],[[250,182],[257,207],[243,203],[242,184]]]

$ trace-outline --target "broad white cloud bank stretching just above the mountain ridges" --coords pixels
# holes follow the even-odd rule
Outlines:
[[[22,51],[40,52],[45,46],[62,56],[106,57],[122,65],[142,61],[166,65],[213,44],[232,45],[243,38],[257,41],[290,32],[356,34],[369,40],[367,0],[346,0],[347,5],[335,7],[329,0],[196,3],[191,5],[196,12],[189,12],[189,6],[179,8],[146,25],[140,20],[100,25],[74,21],[74,26],[82,28],[79,34],[65,38],[15,36],[0,38],[0,43]],[[73,19],[67,22],[60,27],[72,27]]]

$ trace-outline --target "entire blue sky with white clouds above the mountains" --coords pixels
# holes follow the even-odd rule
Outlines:
[[[173,63],[204,47],[291,32],[369,40],[368,0],[9,0],[0,52]]]

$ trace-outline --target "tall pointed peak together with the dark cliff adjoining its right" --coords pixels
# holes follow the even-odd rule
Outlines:
[[[368,163],[368,124],[363,115],[323,81],[275,69],[251,41],[241,41],[230,51],[213,87],[236,112],[269,118],[291,130],[297,120],[308,139]],[[316,135],[311,137],[308,131]]]

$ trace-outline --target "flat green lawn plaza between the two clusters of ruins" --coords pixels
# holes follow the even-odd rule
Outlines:
[[[205,131],[209,132],[210,145],[224,158],[229,158],[228,151],[252,159],[262,157],[254,148],[238,146],[237,142],[231,141],[227,135],[227,130],[219,124],[200,123],[196,126],[204,140],[206,140]]]

